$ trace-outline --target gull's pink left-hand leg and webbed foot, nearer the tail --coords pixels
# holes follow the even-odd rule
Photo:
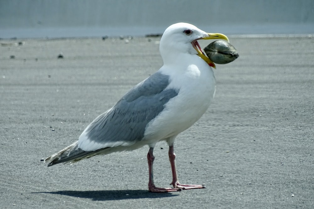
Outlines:
[[[148,170],[149,170],[149,182],[148,182],[148,189],[151,192],[170,192],[170,191],[181,191],[180,188],[160,188],[156,187],[154,184],[154,175],[153,175],[153,164],[154,164],[154,155],[153,155],[154,148],[150,147],[147,160],[148,160]]]

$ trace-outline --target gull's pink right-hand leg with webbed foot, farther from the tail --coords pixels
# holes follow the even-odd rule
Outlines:
[[[171,170],[172,170],[172,182],[174,188],[179,189],[203,189],[206,188],[204,185],[188,185],[188,184],[180,184],[178,180],[178,176],[176,173],[176,162],[175,162],[176,154],[173,152],[173,145],[169,146],[169,160],[171,164]]]

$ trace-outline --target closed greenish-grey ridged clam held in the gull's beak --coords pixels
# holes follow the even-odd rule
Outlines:
[[[224,40],[217,40],[208,44],[204,52],[216,64],[227,64],[239,57],[234,46]]]

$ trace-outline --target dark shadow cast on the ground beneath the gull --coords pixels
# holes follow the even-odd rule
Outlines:
[[[89,198],[94,201],[107,200],[125,200],[125,199],[141,199],[141,198],[161,198],[177,196],[170,192],[153,193],[148,190],[99,190],[99,191],[48,191],[48,192],[32,192],[33,194],[46,193],[66,195],[79,198]]]

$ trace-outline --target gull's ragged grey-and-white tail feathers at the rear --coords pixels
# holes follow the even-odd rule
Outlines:
[[[72,163],[76,163],[79,160],[95,156],[97,155],[97,153],[99,153],[100,150],[102,149],[86,152],[78,148],[78,141],[76,141],[70,146],[62,149],[60,152],[57,152],[56,154],[53,154],[47,157],[45,159],[45,162],[49,163],[48,167],[51,165],[59,164],[59,163],[72,164]]]

